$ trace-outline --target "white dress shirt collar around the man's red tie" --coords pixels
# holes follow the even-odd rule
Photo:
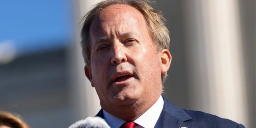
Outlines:
[[[162,96],[153,104],[146,112],[144,112],[139,118],[133,120],[134,123],[138,124],[134,128],[161,128],[162,127],[162,109],[163,109],[163,98]],[[108,112],[103,110],[104,119],[111,128],[119,128],[126,121],[119,119]]]

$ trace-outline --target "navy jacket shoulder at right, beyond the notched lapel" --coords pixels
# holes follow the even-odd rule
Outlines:
[[[212,115],[209,113],[193,110],[184,110],[189,116],[192,117],[188,120],[189,124],[196,124],[197,127],[207,127],[207,128],[245,128],[242,124],[233,122],[230,119],[225,119]],[[187,123],[188,123],[187,122]]]

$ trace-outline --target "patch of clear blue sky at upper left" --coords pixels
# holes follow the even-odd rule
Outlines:
[[[73,37],[71,0],[1,0],[0,43],[19,54],[65,46]]]

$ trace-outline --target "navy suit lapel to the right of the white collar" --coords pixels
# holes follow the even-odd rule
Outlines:
[[[192,119],[183,109],[171,104],[163,97],[163,128],[186,127],[185,121]]]

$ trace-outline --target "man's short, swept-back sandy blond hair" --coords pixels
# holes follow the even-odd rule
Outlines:
[[[81,45],[83,50],[84,61],[87,66],[90,66],[90,37],[89,30],[91,22],[94,17],[99,15],[100,11],[107,6],[114,4],[126,4],[139,10],[145,17],[148,31],[153,39],[157,51],[162,49],[169,49],[170,37],[169,30],[167,29],[165,22],[166,19],[162,16],[160,11],[154,10],[146,0],[105,0],[95,5],[84,17],[83,27],[81,31]],[[162,83],[165,81],[167,73],[162,74]]]

